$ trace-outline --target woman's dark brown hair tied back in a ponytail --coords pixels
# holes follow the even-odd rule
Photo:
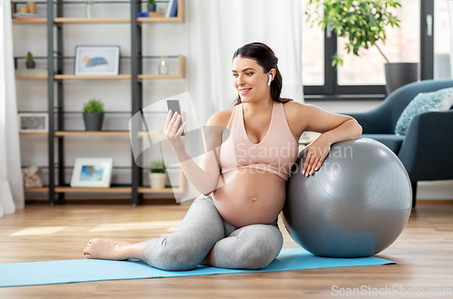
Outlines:
[[[233,60],[238,56],[255,60],[256,63],[263,68],[264,72],[269,72],[272,69],[275,69],[275,78],[271,82],[272,100],[279,102],[293,101],[292,99],[284,99],[280,97],[280,94],[282,93],[283,78],[282,74],[278,70],[278,58],[269,46],[265,43],[247,43],[236,50],[233,55]],[[234,104],[236,106],[240,103],[242,103],[241,97],[237,95]]]

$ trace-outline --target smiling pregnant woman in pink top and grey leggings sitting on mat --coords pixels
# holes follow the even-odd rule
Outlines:
[[[83,250],[87,258],[138,258],[163,270],[200,264],[259,269],[275,259],[283,246],[277,218],[302,133],[322,133],[313,141],[304,168],[298,169],[305,176],[321,167],[331,144],[361,135],[361,126],[349,116],[281,98],[277,62],[264,43],[236,50],[235,106],[207,121],[207,154],[200,166],[180,137],[185,123],[178,130],[180,116],[169,111],[164,132],[186,177],[201,193],[178,229],[137,244],[93,239]]]

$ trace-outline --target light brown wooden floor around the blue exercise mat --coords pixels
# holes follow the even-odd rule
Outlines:
[[[82,249],[93,237],[139,242],[168,236],[187,210],[177,205],[27,205],[0,218],[0,263],[83,258]],[[297,247],[281,219],[280,229],[284,248]],[[444,297],[429,294],[430,288],[438,288],[438,294],[449,288],[447,297],[453,297],[453,201],[419,201],[400,238],[378,256],[399,265],[9,287],[0,288],[0,298],[331,298],[350,297],[337,293],[341,289],[363,287],[369,295],[356,291],[355,297],[384,296],[378,292],[386,287],[390,298],[414,297],[409,291],[416,288],[424,291],[417,298]],[[408,291],[396,292],[397,287]]]

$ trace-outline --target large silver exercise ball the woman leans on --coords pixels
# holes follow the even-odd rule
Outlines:
[[[381,142],[361,138],[333,144],[323,166],[302,174],[308,147],[287,181],[284,226],[316,256],[361,257],[390,246],[408,223],[410,178]]]

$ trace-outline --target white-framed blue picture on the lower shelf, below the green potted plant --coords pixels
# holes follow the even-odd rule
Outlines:
[[[71,187],[111,186],[111,158],[77,158],[72,169]]]

